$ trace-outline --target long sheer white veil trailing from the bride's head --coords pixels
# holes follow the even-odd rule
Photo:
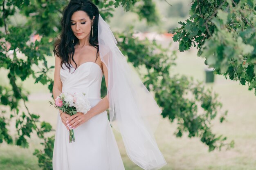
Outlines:
[[[153,135],[162,110],[128,65],[101,15],[98,39],[101,61],[108,68],[110,122],[121,133],[128,157],[145,170],[157,170],[166,165]]]

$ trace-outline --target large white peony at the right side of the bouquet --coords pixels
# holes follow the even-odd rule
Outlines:
[[[74,106],[77,112],[85,114],[91,109],[90,102],[85,93],[74,93],[74,98]]]

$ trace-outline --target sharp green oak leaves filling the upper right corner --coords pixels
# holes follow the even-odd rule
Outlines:
[[[196,46],[215,73],[256,95],[256,1],[192,0],[190,17],[172,30],[180,51]]]

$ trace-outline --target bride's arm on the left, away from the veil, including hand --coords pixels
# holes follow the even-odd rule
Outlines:
[[[61,58],[55,55],[54,84],[52,88],[52,94],[54,99],[56,99],[56,97],[60,95],[62,92],[60,70],[61,70]],[[63,113],[62,110],[59,110],[59,112],[61,114],[61,121],[66,126],[67,121],[70,118],[70,115]],[[67,128],[67,130],[69,130],[69,128]]]

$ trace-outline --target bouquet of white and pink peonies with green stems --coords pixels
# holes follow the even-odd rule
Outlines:
[[[91,109],[90,102],[85,96],[85,93],[74,93],[71,95],[67,92],[61,93],[56,97],[55,102],[49,101],[54,108],[58,108],[68,115],[75,115],[77,112],[83,114]],[[70,129],[69,142],[75,141],[74,130]]]

